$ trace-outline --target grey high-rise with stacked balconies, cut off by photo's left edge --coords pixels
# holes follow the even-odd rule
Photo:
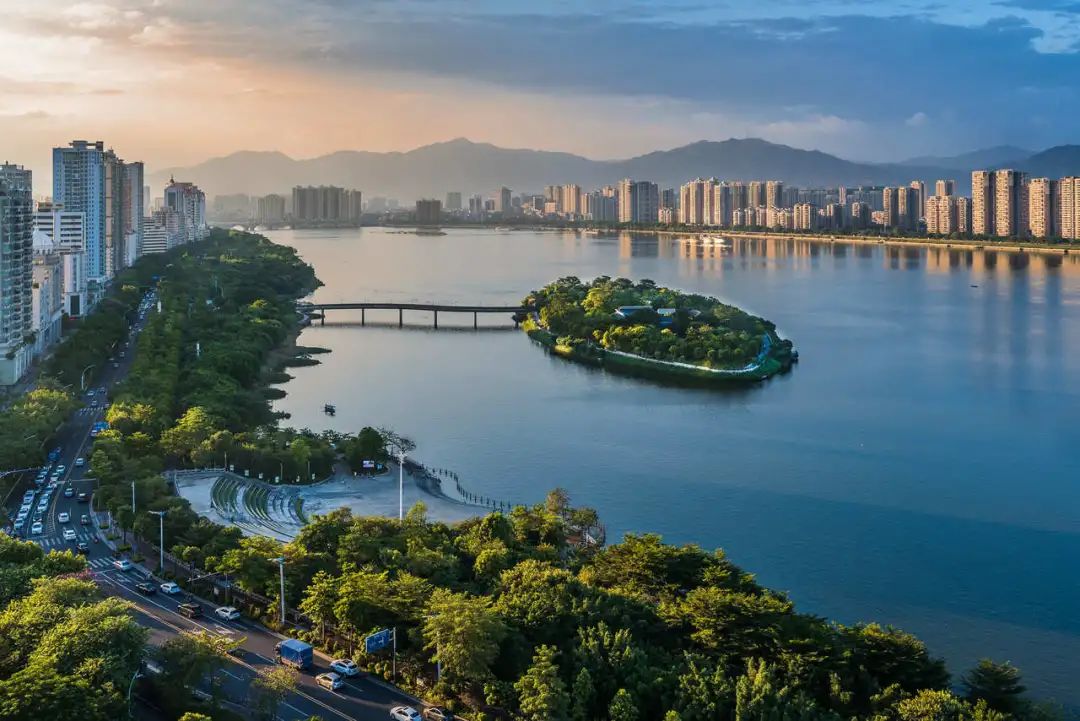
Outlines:
[[[0,165],[0,385],[26,373],[32,348],[33,183],[19,165]]]

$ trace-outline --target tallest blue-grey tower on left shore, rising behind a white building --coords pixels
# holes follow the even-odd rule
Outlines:
[[[53,148],[53,202],[69,213],[81,213],[85,228],[86,274],[106,277],[105,144],[72,140]]]

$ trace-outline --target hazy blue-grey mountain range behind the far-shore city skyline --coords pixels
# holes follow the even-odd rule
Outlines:
[[[485,196],[505,186],[515,192],[541,192],[544,186],[577,182],[584,188],[622,178],[652,180],[677,188],[696,177],[721,180],[777,179],[798,187],[907,185],[954,178],[959,192],[970,187],[970,171],[1015,167],[1032,177],[1080,174],[1080,146],[1042,152],[1001,146],[949,158],[923,157],[899,163],[866,163],[818,150],[800,150],[756,138],[702,140],[626,160],[597,161],[565,152],[499,148],[458,138],[408,152],[342,150],[296,160],[275,151],[241,151],[190,167],[150,175],[156,188],[171,176],[198,183],[207,195],[287,194],[297,185],[357,188],[365,195],[409,202],[444,198],[447,191]]]

